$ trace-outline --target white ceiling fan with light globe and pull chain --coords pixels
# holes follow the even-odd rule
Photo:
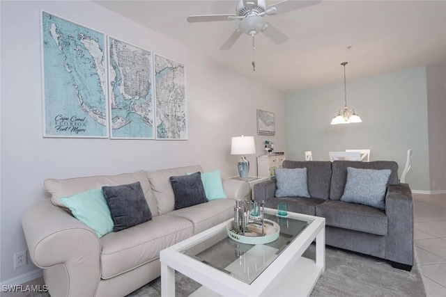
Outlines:
[[[230,49],[231,46],[238,40],[240,35],[242,35],[242,33],[252,36],[254,49],[254,35],[260,32],[278,45],[284,43],[288,39],[288,36],[266,21],[265,15],[279,15],[280,13],[288,13],[289,11],[312,6],[318,3],[321,3],[321,0],[284,0],[270,6],[266,6],[265,0],[240,0],[236,7],[236,14],[191,15],[190,17],[187,17],[187,22],[220,22],[238,19],[240,21],[238,22],[238,28],[236,31],[233,31],[231,36],[229,36],[220,49]]]

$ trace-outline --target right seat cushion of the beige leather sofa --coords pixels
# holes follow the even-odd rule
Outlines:
[[[187,218],[194,224],[194,234],[198,234],[208,230],[210,227],[223,223],[225,220],[229,220],[229,218],[233,218],[235,206],[236,200],[217,199],[171,211],[166,216]]]

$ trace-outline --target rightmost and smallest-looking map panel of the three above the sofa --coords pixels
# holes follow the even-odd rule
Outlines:
[[[154,55],[156,139],[187,139],[185,66]]]

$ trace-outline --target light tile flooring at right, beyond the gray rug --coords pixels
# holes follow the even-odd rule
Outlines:
[[[446,296],[446,194],[413,194],[415,250],[427,297]]]

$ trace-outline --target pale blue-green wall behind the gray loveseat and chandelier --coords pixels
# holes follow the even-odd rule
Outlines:
[[[287,159],[303,160],[311,150],[314,160],[328,160],[328,152],[370,149],[370,160],[392,160],[399,175],[413,149],[410,188],[429,191],[429,137],[426,68],[349,81],[347,105],[362,123],[330,125],[344,106],[344,83],[302,90],[286,96]]]

